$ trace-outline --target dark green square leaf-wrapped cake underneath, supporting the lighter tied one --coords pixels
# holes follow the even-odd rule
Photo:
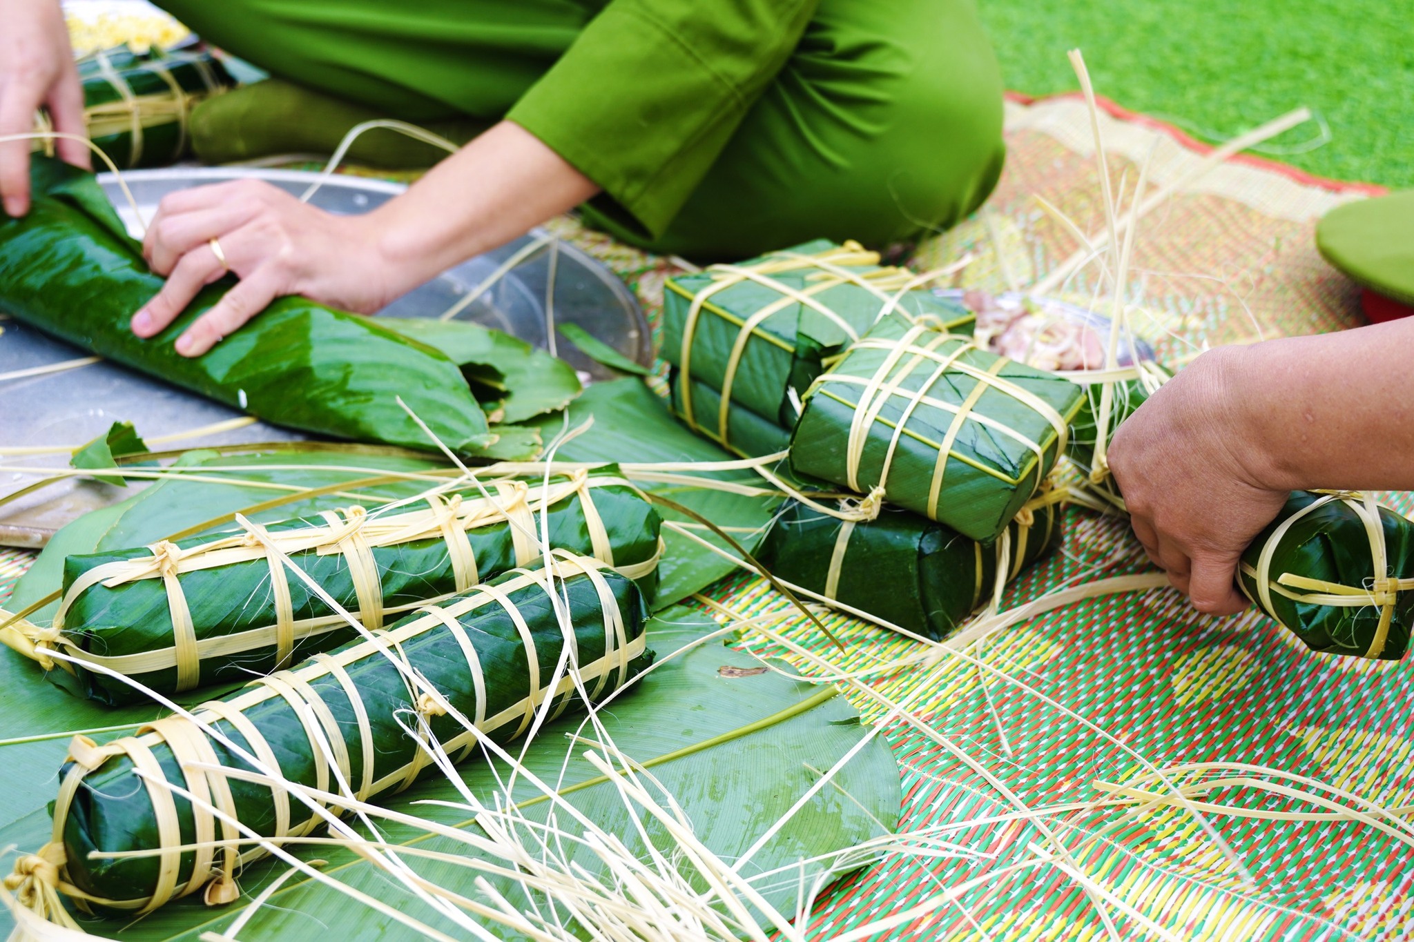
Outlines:
[[[1060,545],[1058,501],[1034,503],[1007,541],[983,545],[898,507],[853,523],[790,501],[759,558],[778,579],[942,641],[993,597],[998,564],[1011,582]]]

